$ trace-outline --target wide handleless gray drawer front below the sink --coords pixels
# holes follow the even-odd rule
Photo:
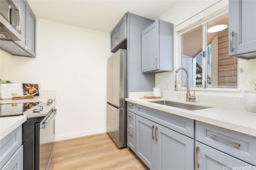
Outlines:
[[[136,105],[136,114],[194,139],[194,120],[150,107]]]

